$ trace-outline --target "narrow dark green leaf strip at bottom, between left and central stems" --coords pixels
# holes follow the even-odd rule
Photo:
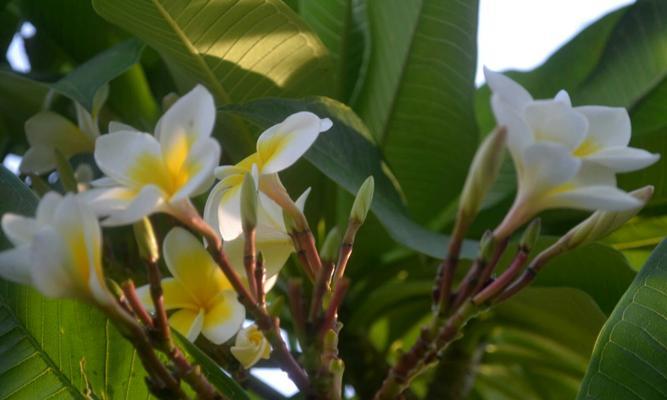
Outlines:
[[[204,375],[213,386],[224,394],[230,400],[249,400],[245,390],[232,378],[230,378],[220,368],[220,366],[206,355],[199,347],[195,346],[187,338],[183,337],[175,330],[171,331],[176,337],[180,347],[192,358],[199,366],[201,366]]]

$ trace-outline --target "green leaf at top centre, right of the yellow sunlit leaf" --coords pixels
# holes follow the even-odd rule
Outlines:
[[[337,99],[347,100],[368,57],[365,0],[301,0],[299,14],[322,39],[336,70]]]

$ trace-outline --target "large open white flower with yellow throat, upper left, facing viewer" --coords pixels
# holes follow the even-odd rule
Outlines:
[[[155,136],[115,123],[97,139],[95,161],[107,176],[85,196],[102,224],[136,222],[154,212],[186,218],[189,198],[208,190],[220,160],[220,145],[211,137],[213,97],[196,86],[162,116]]]

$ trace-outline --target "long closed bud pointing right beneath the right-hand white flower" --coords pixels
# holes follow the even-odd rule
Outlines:
[[[653,186],[644,186],[630,195],[640,201],[640,205],[624,211],[596,211],[579,225],[572,228],[561,239],[569,249],[602,239],[625,224],[644,208],[653,196]]]

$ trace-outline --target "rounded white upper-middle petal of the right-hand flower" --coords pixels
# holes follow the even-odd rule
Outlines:
[[[535,101],[526,106],[524,117],[536,141],[560,143],[574,150],[586,137],[586,118],[559,101]]]

